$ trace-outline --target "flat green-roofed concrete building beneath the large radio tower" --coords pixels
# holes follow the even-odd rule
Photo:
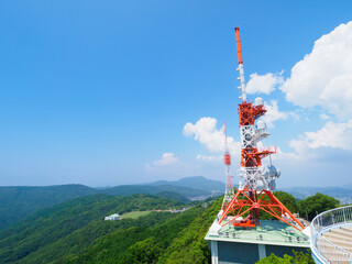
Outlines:
[[[293,255],[293,250],[306,252],[310,248],[307,234],[276,220],[262,220],[261,227],[244,229],[222,227],[216,219],[206,240],[212,264],[253,264],[272,253]]]

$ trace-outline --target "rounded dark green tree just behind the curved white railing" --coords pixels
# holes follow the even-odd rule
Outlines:
[[[301,217],[312,220],[318,213],[337,208],[340,201],[327,195],[317,193],[305,200],[298,201],[298,211]]]

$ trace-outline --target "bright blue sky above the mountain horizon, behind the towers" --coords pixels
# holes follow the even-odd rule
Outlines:
[[[1,1],[0,185],[113,186],[195,175],[223,180],[222,143],[215,147],[211,142],[223,134],[224,120],[233,138],[235,174],[239,92],[233,26],[241,28],[246,80],[255,80],[257,74],[257,81],[252,81],[257,92],[249,97],[261,96],[270,106],[275,100],[278,107],[271,114],[272,135],[263,142],[282,151],[273,157],[283,172],[277,186],[352,183],[345,173],[352,168],[352,142],[331,139],[326,144],[306,134],[326,139],[330,128],[338,131],[336,138],[352,135],[349,90],[341,85],[331,97],[329,87],[326,92],[311,87],[311,75],[300,77],[306,66],[307,73],[332,73],[324,84],[349,76],[349,55],[343,54],[351,48],[351,6]],[[346,29],[321,44],[327,53],[314,50],[317,40],[341,24]],[[345,43],[340,56],[319,63],[323,54],[334,53],[324,50],[334,42],[338,47]],[[312,52],[318,63],[304,61]],[[294,76],[298,62],[302,64]],[[261,78],[265,75],[272,78]],[[263,94],[257,84],[274,90]],[[307,102],[296,87],[309,91],[308,98],[322,99]],[[336,106],[340,99],[346,100],[345,109]],[[204,135],[201,122],[189,127],[200,120],[206,127],[217,121],[212,132]],[[187,132],[188,122],[193,130]]]

